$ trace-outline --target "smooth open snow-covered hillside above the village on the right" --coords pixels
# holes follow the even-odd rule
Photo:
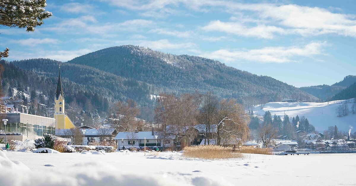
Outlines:
[[[349,109],[354,103],[354,99],[348,100]],[[253,109],[255,115],[263,115],[266,111],[271,112],[272,117],[274,114],[281,117],[286,113],[289,118],[295,116],[305,116],[309,123],[315,126],[315,129],[319,132],[323,132],[328,126],[336,125],[339,130],[349,131],[352,129],[352,133],[356,130],[356,114],[352,114],[345,117],[337,117],[336,108],[343,104],[345,100],[337,100],[325,103],[286,103],[286,102],[271,102],[266,103],[263,109],[261,106],[257,106]],[[283,119],[283,117],[282,117]]]

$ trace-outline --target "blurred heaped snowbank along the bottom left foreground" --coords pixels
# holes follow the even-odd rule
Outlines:
[[[24,154],[24,153],[21,153]],[[73,155],[75,153],[62,153]],[[46,156],[41,156],[41,158]],[[44,170],[30,171],[28,167],[18,161],[10,161],[3,152],[0,152],[0,177],[2,186],[97,186],[97,185],[120,185],[120,186],[230,186],[222,179],[212,179],[200,172],[197,175],[167,172],[162,174],[147,173],[143,169],[137,169],[132,173],[125,173],[117,166],[103,162],[85,162],[68,167],[57,167],[46,164]],[[50,168],[48,168],[50,166]],[[88,171],[90,170],[90,171]],[[19,176],[21,175],[21,176]],[[38,176],[41,175],[41,176]],[[61,176],[58,176],[61,175]],[[137,176],[140,175],[140,176]]]

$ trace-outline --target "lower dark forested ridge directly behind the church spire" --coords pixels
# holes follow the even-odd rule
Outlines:
[[[40,103],[52,105],[57,86],[59,66],[66,103],[73,101],[90,112],[107,112],[109,103],[128,98],[142,106],[150,104],[150,85],[106,73],[78,64],[49,59],[1,61],[4,67],[2,94],[10,95],[9,88],[21,92],[37,92]],[[11,95],[10,95],[11,96]]]

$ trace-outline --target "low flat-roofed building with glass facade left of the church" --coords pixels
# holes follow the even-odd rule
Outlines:
[[[55,134],[56,131],[56,120],[54,118],[24,113],[1,114],[1,118],[9,120],[6,124],[6,133],[42,136],[43,133]],[[4,122],[1,120],[0,122],[0,130],[5,131]]]

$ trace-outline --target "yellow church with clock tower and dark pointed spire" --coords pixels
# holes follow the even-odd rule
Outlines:
[[[57,83],[57,91],[54,96],[54,119],[56,119],[56,129],[74,129],[73,122],[64,112],[64,94],[61,81],[61,67],[59,67],[59,76]]]

